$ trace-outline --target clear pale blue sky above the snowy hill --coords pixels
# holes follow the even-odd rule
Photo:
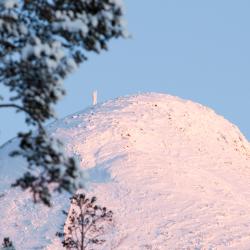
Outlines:
[[[250,138],[250,1],[124,0],[132,38],[114,40],[65,82],[58,117],[138,92],[177,95],[213,108]],[[0,88],[0,92],[3,90]],[[24,129],[0,111],[0,144]]]

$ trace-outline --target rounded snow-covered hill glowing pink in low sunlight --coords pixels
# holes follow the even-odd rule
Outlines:
[[[114,212],[101,249],[250,249],[250,145],[237,127],[191,101],[142,94],[49,126],[85,169],[88,193]],[[10,189],[25,166],[0,150],[0,240],[61,249],[66,195],[52,209]]]

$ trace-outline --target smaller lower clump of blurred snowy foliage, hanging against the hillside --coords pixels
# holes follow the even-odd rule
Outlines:
[[[19,138],[20,149],[12,152],[12,155],[25,157],[29,171],[13,186],[30,190],[34,202],[42,201],[47,206],[51,205],[50,189],[72,193],[81,186],[76,181],[80,177],[76,162],[71,157],[65,157],[59,141],[48,137],[43,130],[35,135],[31,131],[22,133]]]

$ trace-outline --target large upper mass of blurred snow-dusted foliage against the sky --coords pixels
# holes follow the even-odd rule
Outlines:
[[[99,53],[124,36],[122,17],[114,0],[0,2],[0,79],[28,123],[53,117],[62,80],[88,51]]]

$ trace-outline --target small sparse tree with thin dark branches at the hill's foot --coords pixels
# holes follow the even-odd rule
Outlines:
[[[67,215],[64,233],[57,233],[69,250],[87,250],[102,245],[105,226],[112,222],[112,211],[95,204],[96,198],[76,194],[71,198],[71,210]]]

